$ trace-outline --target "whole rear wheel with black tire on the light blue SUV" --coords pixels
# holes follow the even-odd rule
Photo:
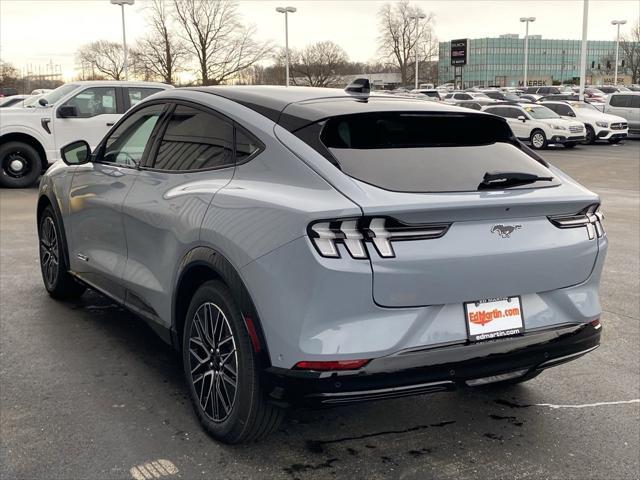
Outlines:
[[[256,441],[280,425],[284,410],[267,402],[240,309],[229,288],[218,280],[204,283],[191,299],[182,363],[196,416],[213,438],[228,444]]]

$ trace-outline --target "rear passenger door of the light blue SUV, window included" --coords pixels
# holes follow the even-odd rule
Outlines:
[[[233,176],[233,122],[176,102],[123,207],[127,306],[168,327],[180,260],[199,245],[215,193]]]

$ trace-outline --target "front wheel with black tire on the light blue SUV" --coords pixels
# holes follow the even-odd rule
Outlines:
[[[44,287],[53,298],[67,300],[78,298],[86,287],[78,283],[69,273],[64,237],[60,224],[51,206],[42,212],[38,222],[40,245],[40,271]]]

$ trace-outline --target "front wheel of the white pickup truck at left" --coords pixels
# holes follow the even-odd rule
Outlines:
[[[31,145],[7,142],[0,145],[0,187],[30,187],[42,173],[42,159]]]

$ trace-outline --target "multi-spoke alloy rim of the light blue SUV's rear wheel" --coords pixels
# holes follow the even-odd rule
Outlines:
[[[189,366],[202,411],[214,422],[224,421],[236,399],[238,353],[231,325],[214,303],[203,303],[193,317]]]

